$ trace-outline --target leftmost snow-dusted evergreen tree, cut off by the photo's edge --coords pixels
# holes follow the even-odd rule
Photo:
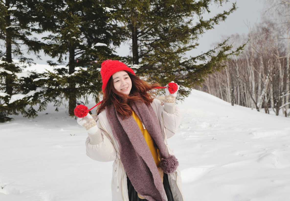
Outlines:
[[[41,103],[45,88],[32,82],[38,74],[23,72],[25,65],[30,65],[32,59],[23,56],[21,47],[26,46],[28,53],[35,54],[41,49],[40,42],[30,38],[32,29],[37,30],[36,21],[27,1],[0,1],[0,40],[5,49],[0,54],[0,122],[10,120],[8,115],[17,115],[19,112],[34,118],[37,111],[32,106],[39,104],[41,110],[45,105]]]

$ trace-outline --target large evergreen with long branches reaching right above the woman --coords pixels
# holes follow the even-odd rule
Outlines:
[[[226,41],[199,56],[186,58],[186,51],[198,46],[198,39],[206,30],[224,21],[236,10],[204,20],[212,3],[222,6],[227,0],[120,0],[112,19],[123,25],[127,39],[132,41],[132,57],[126,61],[148,80],[162,85],[175,81],[180,87],[179,98],[188,96],[204,77],[223,67],[222,61],[239,54],[242,47],[231,51]],[[195,23],[194,19],[198,19]]]

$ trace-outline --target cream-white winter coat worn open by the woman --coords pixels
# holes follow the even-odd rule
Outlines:
[[[160,127],[162,128],[162,134],[167,151],[169,154],[173,155],[173,152],[167,145],[167,138],[170,138],[175,134],[180,124],[180,109],[175,106],[174,114],[166,113],[164,111],[163,102],[157,99],[154,99],[151,105],[157,119],[159,120]],[[90,138],[88,137],[86,139],[86,154],[93,160],[101,162],[114,161],[111,185],[112,201],[129,201],[127,176],[120,160],[119,145],[113,135],[105,110],[98,115],[96,122],[101,131],[103,141],[97,145],[91,145]],[[184,201],[180,170],[178,167],[174,173],[168,173],[168,180],[174,201]]]

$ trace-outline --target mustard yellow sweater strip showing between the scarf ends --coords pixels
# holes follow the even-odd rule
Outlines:
[[[154,147],[153,144],[153,139],[151,138],[150,134],[148,133],[148,131],[146,129],[144,129],[142,121],[139,119],[139,117],[137,116],[137,114],[133,111],[132,114],[133,118],[135,119],[135,121],[137,122],[146,142],[147,145],[151,151],[151,154],[155,160],[156,166],[159,167],[160,165],[160,150],[157,147]]]

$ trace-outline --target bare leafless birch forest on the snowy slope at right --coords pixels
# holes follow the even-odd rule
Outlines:
[[[233,46],[247,43],[243,53],[225,61],[198,89],[265,113],[290,115],[290,1],[265,1],[262,22],[247,24],[247,35],[230,37]],[[282,110],[282,112],[281,112]]]

